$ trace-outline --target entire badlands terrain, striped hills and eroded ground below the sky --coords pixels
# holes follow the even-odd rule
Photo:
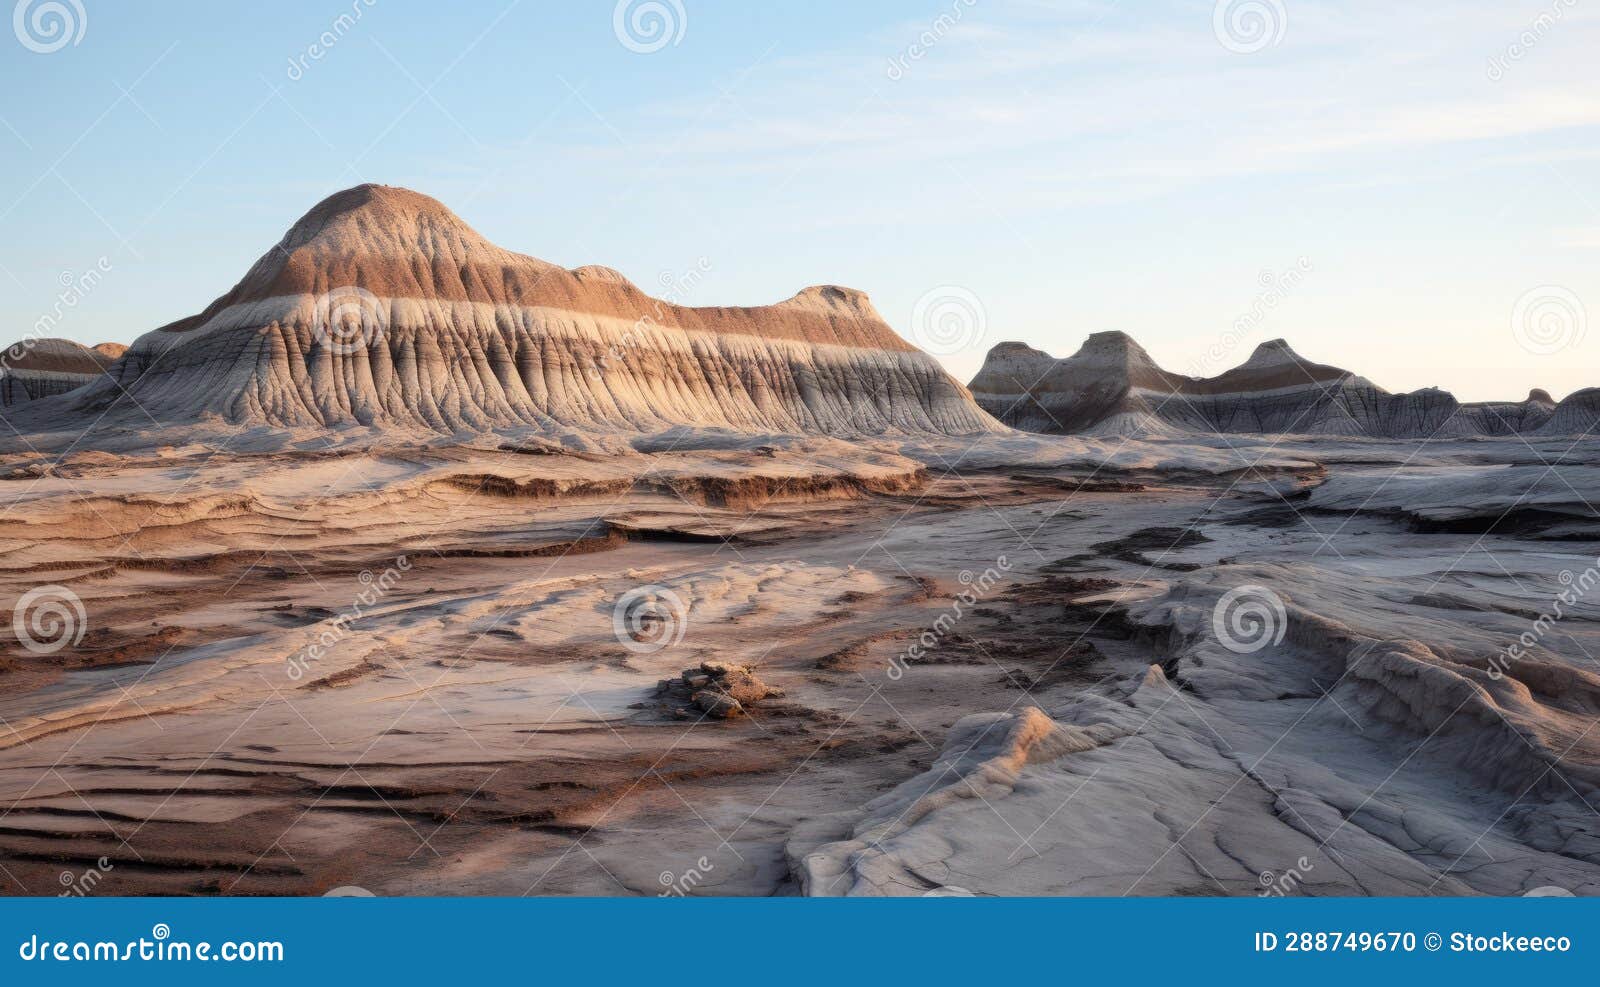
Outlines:
[[[339,192],[6,350],[0,883],[1600,893],[1600,392],[1232,360],[965,387]]]

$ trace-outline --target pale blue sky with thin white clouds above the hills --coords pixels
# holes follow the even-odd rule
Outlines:
[[[5,3],[0,342],[130,342],[384,182],[682,304],[861,288],[962,381],[1122,330],[1600,386],[1590,0]]]

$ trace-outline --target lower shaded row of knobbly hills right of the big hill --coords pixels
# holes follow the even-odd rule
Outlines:
[[[1579,392],[1560,405],[1542,390],[1523,402],[1482,403],[1461,403],[1435,387],[1390,394],[1347,370],[1306,360],[1282,339],[1262,342],[1250,360],[1214,378],[1168,373],[1123,333],[1094,333],[1064,360],[1002,342],[970,387],[1000,421],[1058,434],[1467,438],[1582,434],[1600,421],[1600,392]]]

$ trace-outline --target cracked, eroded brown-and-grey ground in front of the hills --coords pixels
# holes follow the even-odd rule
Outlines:
[[[1018,442],[11,456],[0,883],[1600,891],[1592,445]]]

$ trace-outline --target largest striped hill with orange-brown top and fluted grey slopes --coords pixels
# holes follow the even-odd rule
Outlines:
[[[682,307],[611,269],[494,246],[384,186],[317,205],[232,291],[141,336],[112,378],[72,410],[442,434],[1000,430],[859,291]]]

